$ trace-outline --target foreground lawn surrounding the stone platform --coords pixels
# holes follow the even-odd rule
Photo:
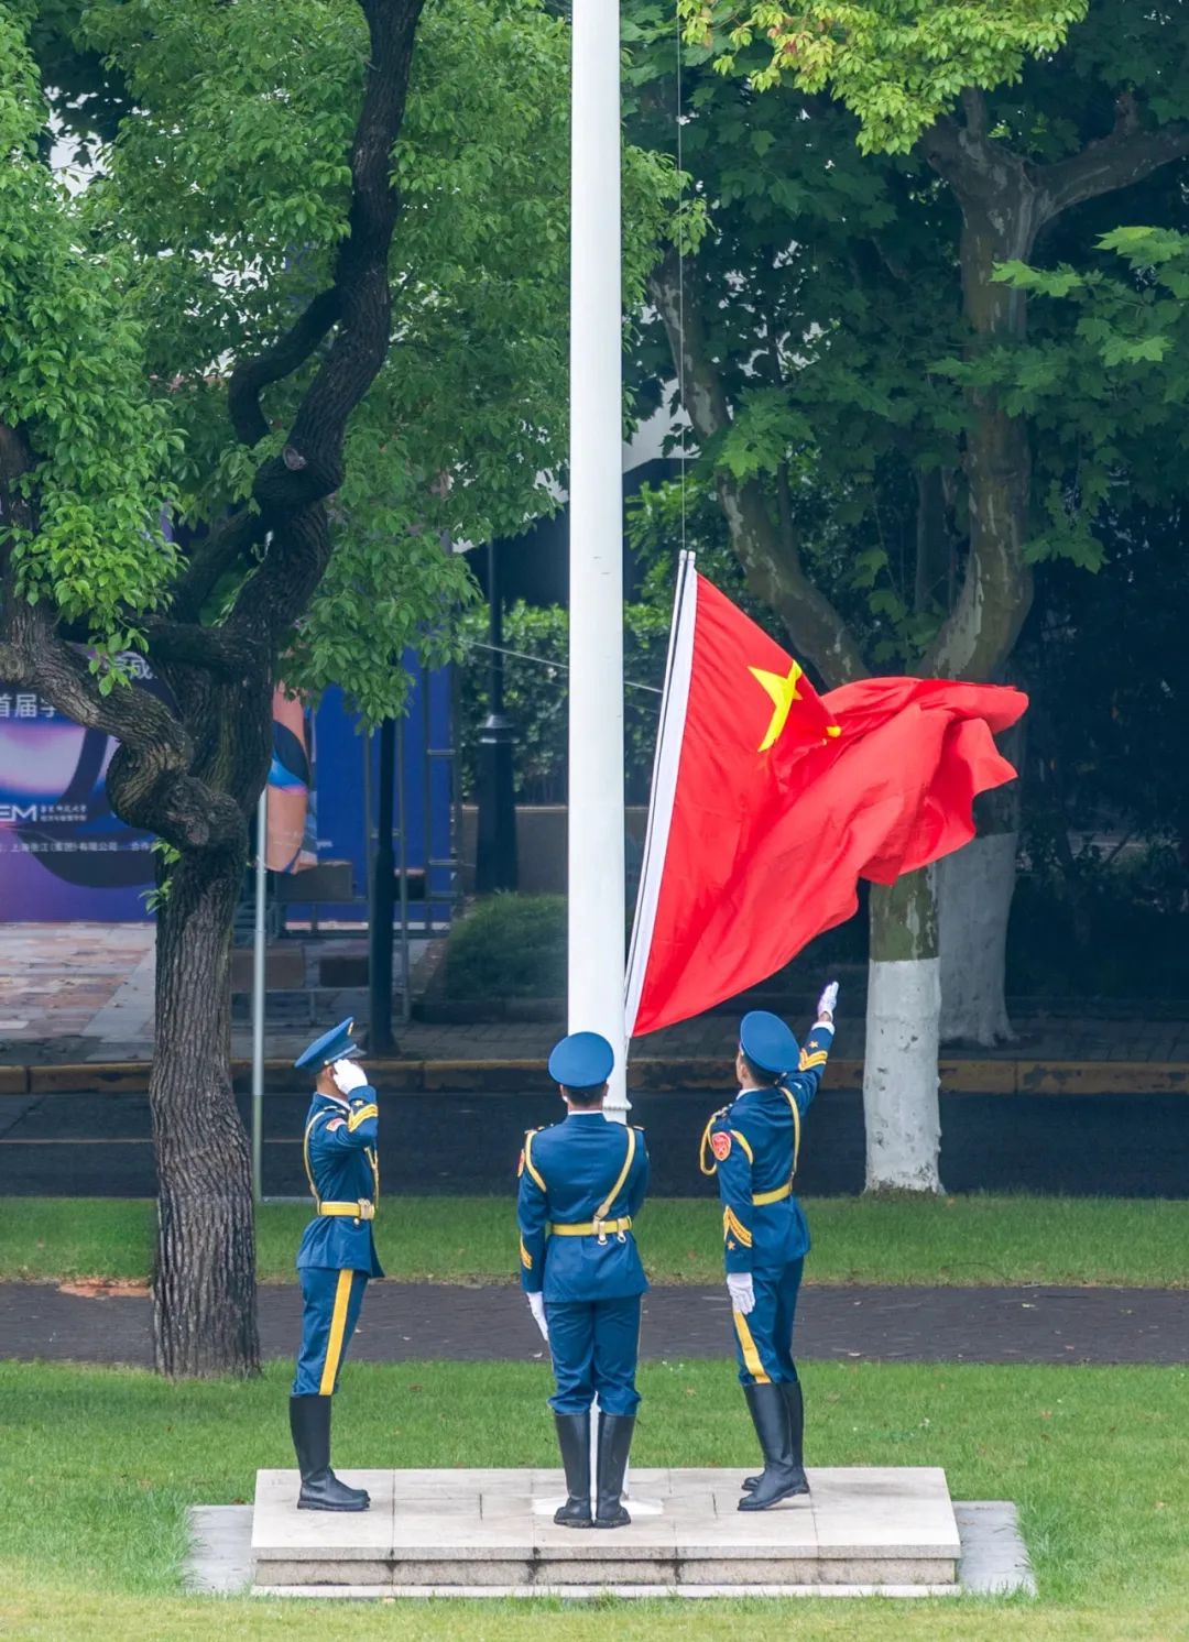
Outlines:
[[[345,1466],[553,1465],[535,1365],[348,1365]],[[903,1639],[1189,1635],[1189,1371],[811,1363],[810,1461],[943,1465],[957,1499],[1015,1499],[1040,1599],[706,1603],[696,1634]],[[645,1365],[640,1465],[747,1465],[742,1397],[711,1363]],[[0,1635],[678,1639],[673,1601],[322,1604],[186,1598],[186,1506],[291,1465],[287,1374],[171,1384],[0,1363]],[[609,1611],[611,1609],[611,1611]]]

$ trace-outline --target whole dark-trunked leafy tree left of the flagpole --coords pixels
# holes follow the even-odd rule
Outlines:
[[[0,678],[118,739],[112,805],[169,851],[169,1373],[258,1360],[228,964],[274,685],[397,713],[468,594],[452,544],[553,506],[568,44],[535,0],[0,13]],[[624,169],[639,304],[672,164]]]

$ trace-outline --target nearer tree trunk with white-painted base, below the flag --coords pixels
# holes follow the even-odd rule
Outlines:
[[[941,1010],[933,869],[870,890],[862,1108],[867,1190],[939,1192]]]

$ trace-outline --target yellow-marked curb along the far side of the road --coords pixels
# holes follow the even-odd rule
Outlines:
[[[486,1061],[370,1061],[384,1094],[534,1094],[553,1085],[544,1059]],[[1013,1061],[943,1059],[943,1095],[1187,1095],[1189,1061]],[[232,1062],[238,1092],[251,1087],[251,1066]],[[0,1095],[148,1094],[146,1061],[82,1062],[76,1066],[3,1066]],[[301,1094],[289,1061],[264,1062],[266,1094]],[[640,1056],[627,1069],[627,1087],[644,1094],[728,1090],[729,1067],[721,1057]],[[831,1061],[826,1089],[861,1089],[862,1061]]]

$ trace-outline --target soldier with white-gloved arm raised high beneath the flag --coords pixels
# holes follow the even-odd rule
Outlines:
[[[793,1363],[793,1317],[810,1228],[793,1197],[801,1118],[818,1092],[834,1039],[838,982],[818,1000],[818,1021],[798,1051],[777,1015],[754,1010],[739,1026],[739,1095],[701,1136],[703,1174],[718,1174],[726,1286],[739,1381],[764,1453],[744,1481],[741,1511],[767,1511],[808,1494],[805,1406]],[[713,1153],[713,1163],[706,1153]]]

